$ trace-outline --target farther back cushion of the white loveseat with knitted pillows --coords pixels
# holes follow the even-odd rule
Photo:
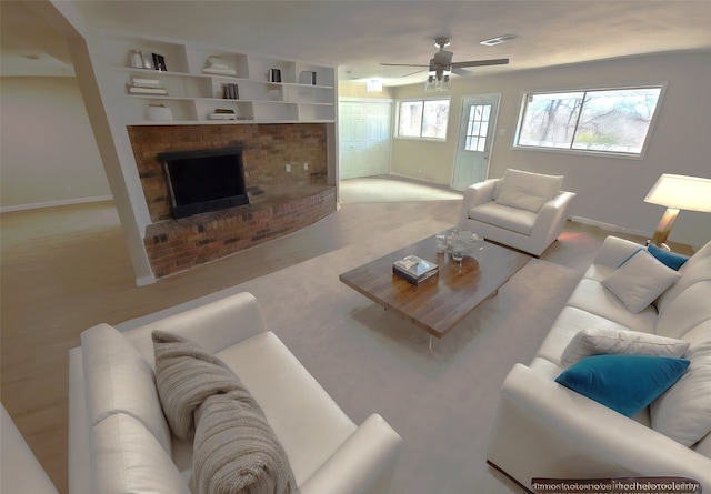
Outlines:
[[[110,415],[130,415],[143,424],[170,455],[170,427],[160,406],[153,370],[146,359],[108,324],[81,333],[81,352],[91,426]]]

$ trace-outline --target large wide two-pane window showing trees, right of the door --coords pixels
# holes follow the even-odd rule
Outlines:
[[[641,155],[662,87],[530,93],[515,147]]]

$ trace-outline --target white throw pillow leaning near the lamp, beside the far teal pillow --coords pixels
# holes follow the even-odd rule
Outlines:
[[[612,274],[602,280],[630,312],[637,314],[681,278],[643,249],[637,251]]]

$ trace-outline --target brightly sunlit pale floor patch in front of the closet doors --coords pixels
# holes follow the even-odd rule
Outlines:
[[[445,185],[429,183],[398,175],[365,177],[341,180],[339,202],[427,202],[461,201],[462,193]]]

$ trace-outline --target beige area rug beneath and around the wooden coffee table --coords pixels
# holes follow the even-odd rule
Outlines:
[[[393,493],[515,492],[484,463],[499,389],[515,362],[530,362],[582,273],[531,260],[430,352],[424,332],[338,275],[444,228],[415,221],[183,306],[253,293],[268,326],[354,422],[378,412],[403,437]]]

